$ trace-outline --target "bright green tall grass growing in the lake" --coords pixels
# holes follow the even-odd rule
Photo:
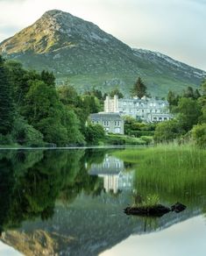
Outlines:
[[[192,145],[126,149],[116,156],[136,168],[139,195],[159,195],[161,202],[206,204],[206,151]]]

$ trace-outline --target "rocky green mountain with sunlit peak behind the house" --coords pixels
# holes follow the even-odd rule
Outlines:
[[[58,10],[0,44],[0,53],[25,68],[53,71],[57,83],[69,79],[79,90],[119,87],[129,94],[141,76],[156,96],[200,85],[206,73],[161,53],[132,49],[97,25]]]

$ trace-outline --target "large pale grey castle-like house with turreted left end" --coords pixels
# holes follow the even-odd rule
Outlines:
[[[133,117],[146,123],[162,122],[172,118],[167,101],[146,96],[141,99],[118,99],[117,96],[107,96],[104,101],[104,112],[117,112],[121,116]]]

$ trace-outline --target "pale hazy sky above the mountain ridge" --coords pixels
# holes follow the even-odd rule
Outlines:
[[[206,0],[0,0],[0,41],[59,9],[132,47],[206,70]]]

